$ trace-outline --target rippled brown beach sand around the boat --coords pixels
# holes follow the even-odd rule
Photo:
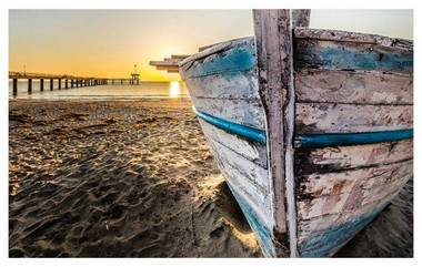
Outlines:
[[[10,257],[261,257],[189,100],[9,105]],[[411,256],[412,188],[339,256]]]

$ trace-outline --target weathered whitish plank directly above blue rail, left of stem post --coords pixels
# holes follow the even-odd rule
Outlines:
[[[193,94],[191,99],[198,111],[245,126],[265,129],[264,114],[259,100],[209,100]]]

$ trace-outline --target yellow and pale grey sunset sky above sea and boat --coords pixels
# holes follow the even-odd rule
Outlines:
[[[312,10],[312,28],[413,39],[412,10]],[[150,60],[253,34],[251,10],[10,10],[9,70],[173,81]]]

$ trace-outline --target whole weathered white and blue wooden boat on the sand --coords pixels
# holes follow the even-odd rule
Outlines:
[[[263,255],[332,256],[413,175],[413,43],[289,10],[254,27],[179,71]]]

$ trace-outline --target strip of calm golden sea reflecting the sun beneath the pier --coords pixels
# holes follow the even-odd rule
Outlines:
[[[128,84],[125,81],[121,84],[120,80],[115,80],[114,84],[70,88],[64,89],[64,81],[54,80],[53,90],[50,90],[50,81],[44,80],[44,90],[40,90],[40,81],[32,80],[32,92],[28,92],[28,82],[18,81],[18,93],[13,95],[12,81],[9,81],[9,100],[135,100],[135,99],[162,99],[162,97],[189,97],[188,89],[183,82],[140,82],[139,84]]]

